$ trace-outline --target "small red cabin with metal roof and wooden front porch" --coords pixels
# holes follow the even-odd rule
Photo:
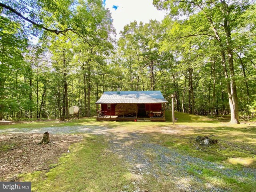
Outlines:
[[[106,91],[96,102],[97,120],[165,121],[165,104],[160,91]]]

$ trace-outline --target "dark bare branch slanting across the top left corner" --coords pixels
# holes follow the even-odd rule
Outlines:
[[[80,36],[81,38],[83,38],[83,39],[86,41],[86,43],[88,43],[88,45],[92,46],[92,45],[88,42],[88,40],[87,40],[86,38],[84,38],[82,35],[80,35],[80,34],[79,34],[78,32],[76,32],[76,31],[74,31],[73,29],[70,29],[70,28],[67,28],[67,29],[65,29],[65,30],[53,30],[53,29],[49,29],[49,28],[46,28],[45,26],[43,26],[42,24],[38,24],[38,23],[36,23],[36,22],[30,20],[29,18],[26,18],[26,17],[23,16],[20,12],[18,12],[17,10],[15,10],[14,8],[12,8],[12,7],[8,6],[8,5],[5,5],[5,4],[0,3],[0,6],[1,6],[2,8],[6,8],[6,9],[10,10],[10,11],[13,12],[14,14],[20,16],[22,19],[24,19],[24,20],[27,21],[27,22],[30,22],[30,23],[33,24],[34,26],[37,26],[37,27],[42,28],[42,29],[44,29],[44,30],[46,30],[46,31],[49,31],[49,32],[53,32],[53,33],[55,33],[56,35],[58,35],[58,34],[66,34],[66,32],[72,31],[73,33],[75,33],[75,34],[77,34],[78,36]]]

